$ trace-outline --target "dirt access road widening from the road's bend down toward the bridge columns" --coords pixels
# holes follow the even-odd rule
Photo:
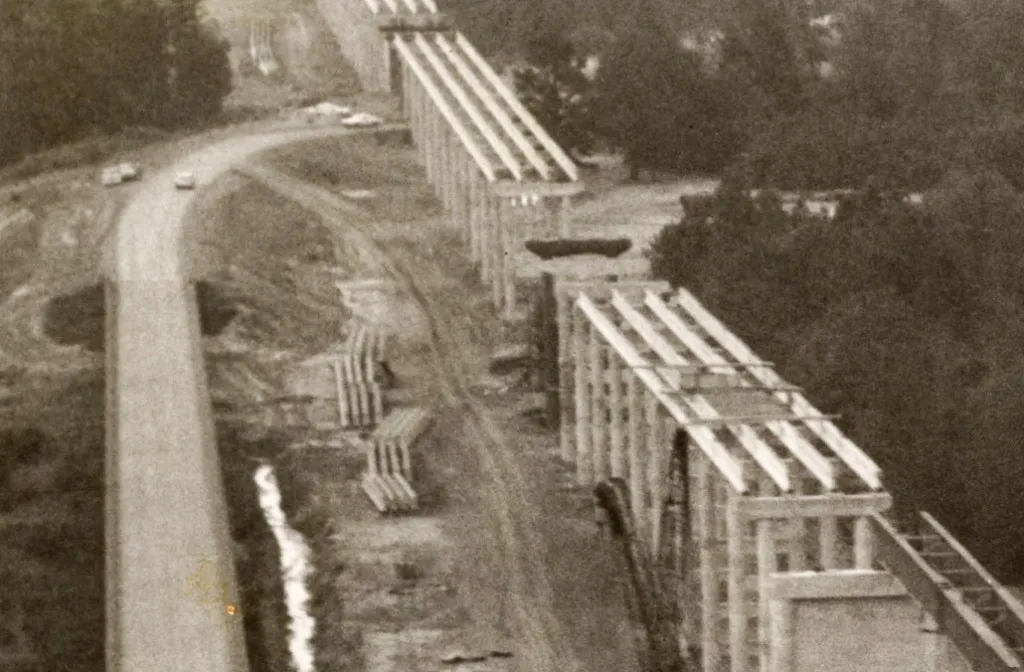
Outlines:
[[[480,513],[460,513],[459,593],[477,636],[512,639],[517,669],[582,672],[635,670],[636,656],[611,544],[590,522],[587,532],[564,530],[564,502],[552,496],[550,468],[523,450],[471,393],[479,353],[460,340],[457,320],[434,296],[443,282],[443,258],[423,259],[382,244],[392,232],[333,192],[265,166],[240,172],[340,227],[351,247],[367,250],[383,274],[415,299],[429,325],[435,388],[459,410],[458,475]],[[461,254],[443,250],[442,254]],[[547,469],[547,471],[546,471]]]

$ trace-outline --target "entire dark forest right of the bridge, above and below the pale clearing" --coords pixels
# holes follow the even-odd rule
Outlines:
[[[555,76],[599,53],[596,80],[563,89],[634,174],[720,171],[721,193],[653,246],[656,274],[841,414],[902,513],[931,511],[1024,582],[1024,5],[842,3],[829,40],[809,19],[836,7],[728,4],[713,67],[644,3],[527,56]],[[753,187],[866,196],[823,221]]]

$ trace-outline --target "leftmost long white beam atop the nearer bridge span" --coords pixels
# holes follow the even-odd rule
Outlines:
[[[643,382],[647,390],[657,397],[662,406],[676,419],[676,422],[685,424],[689,419],[687,414],[670,394],[670,389],[665,381],[651,371],[646,371],[647,361],[637,352],[636,348],[615,329],[614,325],[597,308],[597,306],[586,295],[577,299],[575,305],[584,312],[589,323],[594,326],[605,340],[615,349],[627,367],[634,369],[634,373]],[[694,443],[708,455],[712,463],[723,475],[729,485],[739,493],[746,492],[743,482],[742,467],[729,454],[724,446],[719,443],[715,434],[707,427],[695,427],[689,430]]]

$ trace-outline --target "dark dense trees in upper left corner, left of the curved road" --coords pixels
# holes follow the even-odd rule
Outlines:
[[[205,121],[230,82],[200,0],[4,0],[0,164],[92,132]]]

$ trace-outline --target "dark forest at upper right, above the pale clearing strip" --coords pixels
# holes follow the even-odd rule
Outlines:
[[[865,0],[838,14],[838,37],[811,26],[827,3],[735,0],[706,57],[681,43],[699,24],[665,3],[631,2],[613,20],[534,4],[503,18],[532,71],[520,94],[569,149],[618,149],[634,176],[732,165],[765,186],[924,188],[973,155],[1021,179],[1024,9],[1013,0]],[[589,55],[593,82],[572,74]]]

